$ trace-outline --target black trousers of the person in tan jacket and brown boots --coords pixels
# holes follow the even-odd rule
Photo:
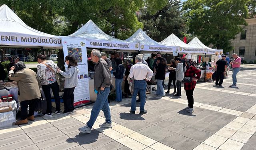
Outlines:
[[[20,102],[20,120],[24,120],[28,118],[29,116],[34,115],[34,111],[36,108],[36,103],[37,103],[38,98],[32,99],[32,100],[24,100]],[[28,110],[28,105],[29,105],[29,110]]]

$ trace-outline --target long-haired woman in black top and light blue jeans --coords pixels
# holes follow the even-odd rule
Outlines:
[[[156,88],[156,95],[164,97],[164,86],[163,86],[163,80],[165,79],[165,62],[161,57],[157,58],[156,61],[156,83],[157,83],[157,88]]]

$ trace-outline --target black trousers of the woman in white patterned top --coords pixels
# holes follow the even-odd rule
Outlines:
[[[52,100],[51,100],[51,89],[55,99],[56,111],[60,111],[60,96],[59,96],[59,85],[57,82],[48,85],[42,85],[44,96],[47,102],[46,114],[52,113]]]

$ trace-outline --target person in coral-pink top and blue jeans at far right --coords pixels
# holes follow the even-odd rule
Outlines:
[[[230,85],[230,87],[236,87],[236,74],[239,72],[240,64],[241,64],[241,58],[237,56],[236,53],[232,54],[233,61],[230,62],[229,64],[231,65],[231,68],[233,69],[233,74],[232,74],[232,80],[233,84]]]

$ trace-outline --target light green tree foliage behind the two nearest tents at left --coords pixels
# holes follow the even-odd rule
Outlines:
[[[104,32],[126,39],[143,24],[136,11],[147,7],[151,14],[165,6],[167,0],[1,0],[28,25],[56,35],[69,35],[88,20]],[[56,24],[57,20],[66,26]]]

